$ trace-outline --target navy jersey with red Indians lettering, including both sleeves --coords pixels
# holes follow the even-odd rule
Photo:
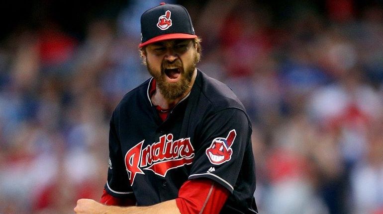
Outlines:
[[[191,92],[162,121],[149,96],[152,81],[113,112],[105,190],[150,206],[177,198],[188,179],[207,178],[231,192],[221,213],[256,213],[251,123],[232,90],[197,70]]]

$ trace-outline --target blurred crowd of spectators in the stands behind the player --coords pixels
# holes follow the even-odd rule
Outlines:
[[[261,214],[383,214],[383,0],[167,2],[252,119]],[[149,78],[139,18],[159,3],[1,6],[0,214],[100,199],[111,113]]]

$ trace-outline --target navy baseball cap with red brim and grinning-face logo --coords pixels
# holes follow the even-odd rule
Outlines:
[[[168,39],[197,38],[188,10],[179,4],[161,3],[141,15],[141,43],[143,47]]]

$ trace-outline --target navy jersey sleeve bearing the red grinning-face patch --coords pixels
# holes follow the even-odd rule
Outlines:
[[[251,149],[251,125],[245,112],[229,108],[207,117],[198,134],[189,179],[209,178],[234,190],[244,154]]]

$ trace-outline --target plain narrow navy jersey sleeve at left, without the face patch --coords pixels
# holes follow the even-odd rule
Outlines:
[[[117,135],[116,116],[113,112],[109,129],[109,168],[105,191],[116,198],[134,199],[132,188],[129,184],[128,174],[125,169],[120,142]]]

